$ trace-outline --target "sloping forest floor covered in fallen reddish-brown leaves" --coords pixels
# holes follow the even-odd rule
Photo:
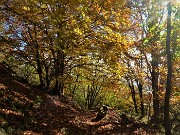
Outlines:
[[[82,109],[66,97],[31,88],[0,64],[1,135],[145,135],[147,125],[122,120],[109,109],[104,119],[91,122],[96,112]],[[149,129],[148,135],[155,134]]]

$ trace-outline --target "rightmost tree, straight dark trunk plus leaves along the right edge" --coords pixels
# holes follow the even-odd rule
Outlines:
[[[176,5],[177,4],[177,5]],[[167,57],[167,80],[166,80],[166,92],[164,97],[164,127],[165,127],[165,134],[173,134],[178,132],[177,127],[178,124],[175,124],[175,121],[179,121],[177,118],[177,108],[174,107],[174,101],[176,102],[177,97],[172,97],[172,95],[178,90],[178,84],[175,83],[176,81],[176,62],[178,56],[178,40],[177,40],[177,32],[178,26],[177,23],[179,22],[179,18],[177,17],[179,14],[178,3],[170,1],[167,5],[167,34],[166,34],[166,57]],[[171,113],[172,114],[171,114]],[[173,130],[172,130],[173,129]]]

